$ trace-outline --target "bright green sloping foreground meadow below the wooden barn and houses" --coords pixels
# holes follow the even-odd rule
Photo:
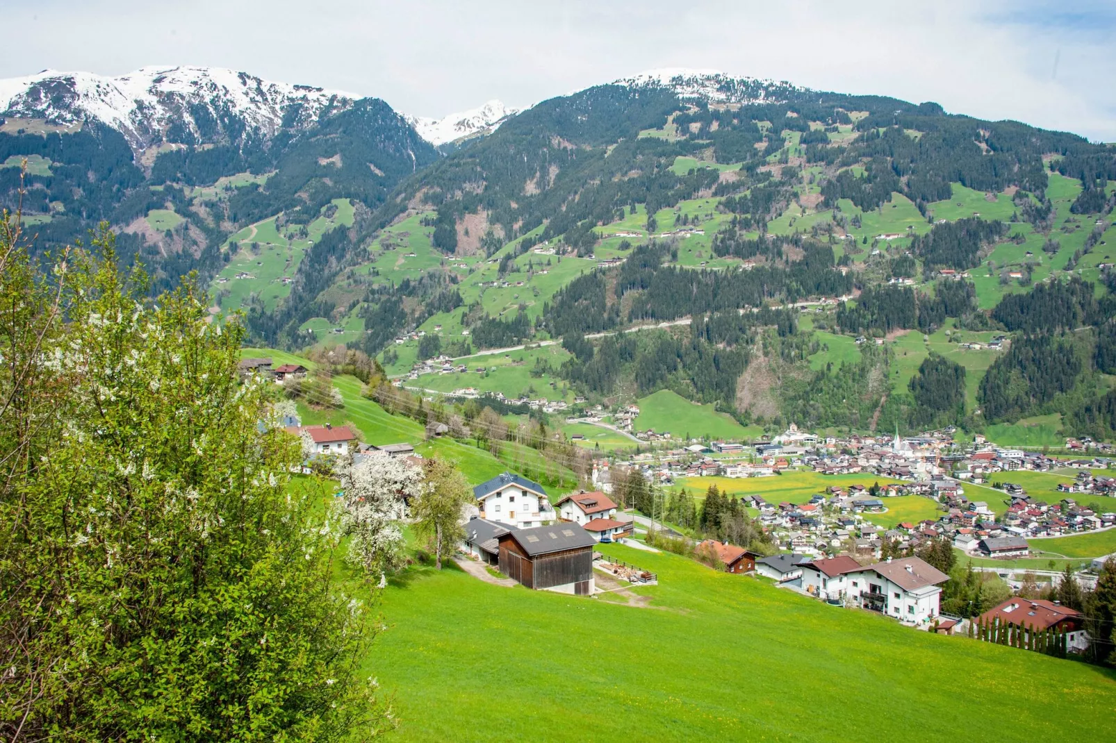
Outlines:
[[[401,740],[941,741],[993,698],[1012,710],[999,740],[1112,740],[1112,670],[921,633],[665,552],[599,550],[658,573],[634,589],[656,608],[503,588],[452,565],[392,579],[367,672],[395,695]],[[513,698],[493,703],[483,683],[509,664]],[[727,693],[741,674],[754,683]]]

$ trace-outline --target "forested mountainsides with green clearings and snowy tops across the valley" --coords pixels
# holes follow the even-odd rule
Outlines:
[[[39,244],[107,219],[161,281],[212,279],[260,341],[395,374],[554,339],[531,378],[569,399],[1112,435],[1110,146],[720,73],[440,122],[235,74],[187,95],[166,81],[184,74],[116,118],[77,78],[4,93],[0,186],[13,206],[29,156]],[[426,141],[459,129],[448,155]]]

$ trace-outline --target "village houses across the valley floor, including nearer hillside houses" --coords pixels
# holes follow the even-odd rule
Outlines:
[[[448,359],[429,363],[439,364],[452,368]],[[278,385],[301,383],[309,374],[300,364],[272,366],[270,358],[246,358],[241,372]],[[473,389],[451,397],[496,399],[540,413],[569,407]],[[636,405],[606,413],[599,405],[586,408],[578,398],[576,406],[578,417],[570,421],[598,423],[607,416],[618,431],[631,431],[639,415]],[[423,467],[422,445],[413,442],[368,444],[356,425],[300,425],[297,416],[285,424],[304,441],[306,472],[339,473],[388,460]],[[1062,655],[1089,647],[1084,615],[1054,597],[1065,581],[1091,589],[1107,557],[1076,565],[1059,560],[1057,569],[1054,561],[1036,565],[1038,556],[1057,553],[1056,538],[1116,527],[1116,479],[1105,474],[1116,464],[1103,445],[1068,442],[1067,451],[1080,452],[1068,459],[998,446],[982,436],[959,443],[953,428],[836,437],[791,424],[779,435],[752,441],[637,433],[646,448],[612,455],[580,448],[585,473],[574,489],[548,489],[513,471],[470,483],[454,560],[485,582],[587,598],[634,597],[635,589],[658,585],[655,572],[602,550],[620,544],[636,554],[676,552],[742,580],[926,631]],[[432,421],[423,437],[429,445],[452,435],[450,425]],[[1028,492],[1020,483],[1036,475],[1042,486]],[[1058,480],[1052,489],[1050,477]],[[782,498],[788,481],[800,486]],[[710,488],[699,510],[723,499],[733,522],[725,518],[720,529],[672,523],[667,501],[683,498],[696,483]],[[639,505],[633,488],[645,489]],[[406,519],[405,502],[397,515]],[[1026,565],[1018,567],[1019,560]],[[942,596],[956,579],[950,568],[963,562],[982,576],[980,581],[995,581],[1001,589],[980,611],[955,614],[943,607]]]

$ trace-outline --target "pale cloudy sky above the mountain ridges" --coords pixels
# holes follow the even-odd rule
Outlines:
[[[662,67],[1116,142],[1114,0],[0,0],[0,77],[229,67],[441,117]]]

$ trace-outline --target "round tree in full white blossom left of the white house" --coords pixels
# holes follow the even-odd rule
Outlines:
[[[368,573],[400,567],[406,501],[422,494],[422,470],[402,457],[369,452],[341,472],[348,559]]]

